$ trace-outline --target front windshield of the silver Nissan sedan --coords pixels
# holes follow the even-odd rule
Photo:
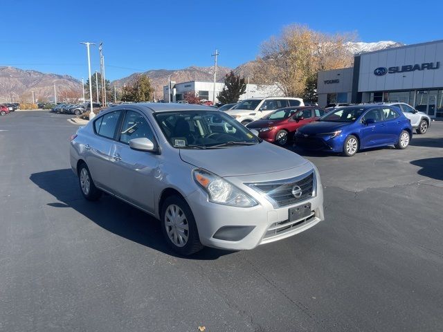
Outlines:
[[[237,120],[220,111],[176,111],[155,114],[172,147],[208,149],[255,145],[261,140]]]

